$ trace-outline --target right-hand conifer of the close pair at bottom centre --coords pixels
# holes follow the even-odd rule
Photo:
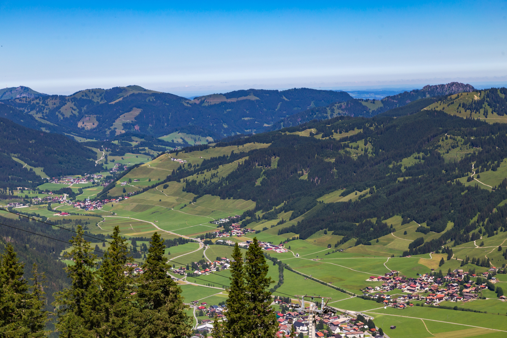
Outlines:
[[[253,238],[245,256],[245,332],[253,337],[271,338],[278,325],[268,291],[271,284],[271,277],[267,277],[269,267],[257,237]]]

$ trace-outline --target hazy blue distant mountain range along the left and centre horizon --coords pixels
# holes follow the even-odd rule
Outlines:
[[[86,138],[112,138],[124,132],[158,137],[189,126],[208,131],[206,136],[220,138],[262,132],[280,118],[350,99],[345,92],[295,88],[240,90],[189,100],[128,86],[88,89],[69,96],[25,96],[3,102],[37,118],[39,128],[62,132],[63,127],[66,133]]]

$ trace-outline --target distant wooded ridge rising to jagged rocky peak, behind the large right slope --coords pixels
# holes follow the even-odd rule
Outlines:
[[[425,105],[417,110],[420,111],[422,108],[435,101],[430,98],[448,96],[461,92],[472,92],[474,90],[473,86],[451,82],[445,85],[424,86],[422,89],[414,89],[410,92],[386,96],[382,100],[353,99],[347,102],[330,104],[325,107],[315,107],[299,112],[298,114],[280,120],[277,124],[273,125],[270,130],[297,126],[300,123],[308,122],[313,119],[330,119],[336,116],[373,117],[391,109],[403,107],[410,102],[426,98],[426,100],[423,101]],[[397,116],[395,112],[393,112],[393,114],[394,115],[389,116]]]

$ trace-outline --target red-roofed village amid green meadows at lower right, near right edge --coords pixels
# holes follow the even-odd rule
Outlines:
[[[490,270],[495,271],[496,268],[492,267]],[[481,274],[484,277],[488,276],[489,272]],[[423,274],[419,278],[407,278],[405,276],[397,276],[396,271],[386,273],[384,276],[370,276],[367,281],[380,281],[383,282],[381,286],[371,287],[368,286],[363,289],[364,294],[375,293],[370,295],[372,297],[382,297],[384,306],[392,306],[395,308],[404,309],[409,306],[410,301],[422,300],[428,305],[437,305],[442,301],[469,301],[478,297],[479,293],[486,289],[486,284],[474,285],[473,280],[464,282],[465,276],[468,272],[464,272],[461,269],[456,269],[453,272],[448,273],[443,278],[438,278],[430,274]],[[470,278],[479,277],[476,274],[469,275]],[[495,282],[496,278],[492,277],[491,282]],[[444,286],[446,284],[446,286]],[[461,289],[461,286],[463,288]],[[402,295],[396,298],[392,298],[388,294],[384,294],[386,291],[400,290],[401,292],[407,292],[408,295]],[[426,296],[422,296],[422,293],[428,293]]]

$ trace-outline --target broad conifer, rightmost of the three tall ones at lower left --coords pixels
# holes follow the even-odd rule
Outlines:
[[[167,274],[169,265],[164,257],[164,240],[154,233],[139,277],[133,314],[135,337],[185,337],[192,333],[190,317],[183,303],[182,289]]]

